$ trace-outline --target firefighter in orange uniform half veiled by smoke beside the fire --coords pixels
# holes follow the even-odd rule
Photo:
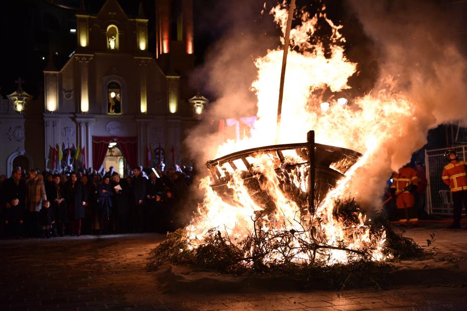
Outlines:
[[[391,195],[396,198],[397,216],[402,225],[417,225],[418,218],[415,211],[415,197],[413,193],[417,190],[417,172],[408,164],[393,174]]]

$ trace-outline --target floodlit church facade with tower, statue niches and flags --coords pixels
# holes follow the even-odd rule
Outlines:
[[[16,165],[112,165],[126,174],[136,165],[190,163],[182,142],[202,113],[193,100],[200,97],[188,86],[192,0],[156,2],[155,58],[141,11],[129,18],[116,0],[107,0],[97,15],[78,12],[74,53],[61,69],[49,60],[44,70],[44,95],[37,100],[43,110],[21,114],[11,98],[1,99],[0,130],[9,131],[9,140],[0,151],[0,174]]]

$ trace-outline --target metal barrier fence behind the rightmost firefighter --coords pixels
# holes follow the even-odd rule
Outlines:
[[[427,211],[428,214],[452,216],[452,198],[449,187],[441,179],[443,168],[447,164],[444,152],[455,150],[459,160],[465,161],[467,145],[450,148],[425,150],[425,167],[427,170]],[[446,191],[447,190],[447,191]]]

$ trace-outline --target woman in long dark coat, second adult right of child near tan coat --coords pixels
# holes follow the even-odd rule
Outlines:
[[[86,188],[78,181],[76,173],[71,173],[65,189],[65,202],[68,206],[71,235],[79,236],[81,234],[81,219],[84,218],[84,205],[86,205],[87,201]]]

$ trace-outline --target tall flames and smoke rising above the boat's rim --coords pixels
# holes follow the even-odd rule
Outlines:
[[[428,130],[467,116],[467,62],[449,41],[450,28],[439,8],[416,1],[354,0],[347,5],[376,49],[375,83],[360,94],[349,85],[350,79],[366,73],[347,56],[345,22],[331,21],[324,6],[313,16],[298,10],[295,19],[301,21],[295,21],[291,31],[279,143],[303,142],[313,129],[318,143],[364,154],[341,194],[351,194],[364,208],[374,209],[391,172],[427,142]],[[260,14],[251,8],[256,7],[247,11]],[[261,18],[274,20],[283,33],[285,5],[264,10]],[[318,21],[323,20],[330,29],[326,40],[316,38]],[[261,32],[250,33],[233,27],[194,76],[204,77],[217,98],[205,120],[258,117],[249,136],[237,141],[225,142],[218,133],[208,132],[208,122],[192,131],[187,142],[199,165],[275,143],[283,38],[266,22],[262,25]],[[259,35],[266,32],[269,35]],[[464,119],[460,121],[467,124]]]

